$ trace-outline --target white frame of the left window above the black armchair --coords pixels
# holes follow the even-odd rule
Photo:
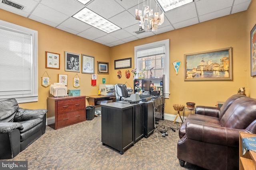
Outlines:
[[[24,97],[17,97],[16,100],[18,103],[27,103],[27,102],[37,102],[38,101],[38,31],[22,27],[13,23],[9,23],[3,20],[0,20],[0,28],[6,29],[9,31],[26,33],[32,36],[32,66],[31,66],[31,95]],[[12,98],[15,98],[12,96]],[[8,98],[3,98],[0,96],[0,100],[5,100]]]

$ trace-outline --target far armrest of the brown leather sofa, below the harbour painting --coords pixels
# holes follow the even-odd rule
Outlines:
[[[219,117],[220,108],[212,106],[196,106],[195,113],[212,117]]]

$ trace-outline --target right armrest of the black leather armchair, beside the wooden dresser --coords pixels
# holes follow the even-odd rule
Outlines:
[[[16,115],[14,116],[14,122],[26,121],[30,119],[43,119],[47,113],[47,109],[23,109],[19,107]]]

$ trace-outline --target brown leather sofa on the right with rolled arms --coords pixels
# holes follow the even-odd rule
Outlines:
[[[233,95],[222,107],[196,106],[179,130],[177,157],[209,170],[239,169],[239,131],[256,134],[256,99]]]

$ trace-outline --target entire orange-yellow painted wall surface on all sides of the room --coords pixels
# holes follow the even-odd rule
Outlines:
[[[172,104],[186,104],[195,102],[196,105],[215,106],[217,101],[225,101],[237,93],[238,88],[246,87],[247,96],[256,98],[254,86],[256,77],[250,77],[250,30],[256,23],[256,2],[252,2],[248,11],[224,16],[189,27],[181,28],[167,33],[139,39],[115,47],[107,47],[65,31],[44,25],[42,23],[0,10],[0,20],[15,23],[38,31],[38,102],[20,104],[24,108],[47,108],[46,99],[49,87],[44,88],[41,77],[45,70],[51,77],[51,83],[58,82],[58,74],[68,74],[68,89],[74,89],[72,78],[76,72],[64,70],[64,52],[86,54],[95,57],[95,73],[97,61],[109,62],[110,74],[97,74],[97,86],[90,85],[91,74],[78,73],[81,78],[82,95],[98,93],[98,85],[102,78],[106,84],[126,83],[133,87],[132,76],[127,79],[124,75],[126,69],[121,69],[122,78],[116,76],[114,60],[132,57],[134,68],[134,46],[170,39],[170,98],[166,99],[165,113],[176,114]],[[184,81],[184,54],[233,48],[233,80],[224,81]],[[100,50],[99,50],[100,49]],[[60,70],[45,68],[45,51],[60,53]],[[181,61],[179,74],[176,75],[172,62]],[[132,70],[129,68],[129,70]],[[110,76],[111,75],[111,76]],[[188,113],[185,113],[185,116]]]

